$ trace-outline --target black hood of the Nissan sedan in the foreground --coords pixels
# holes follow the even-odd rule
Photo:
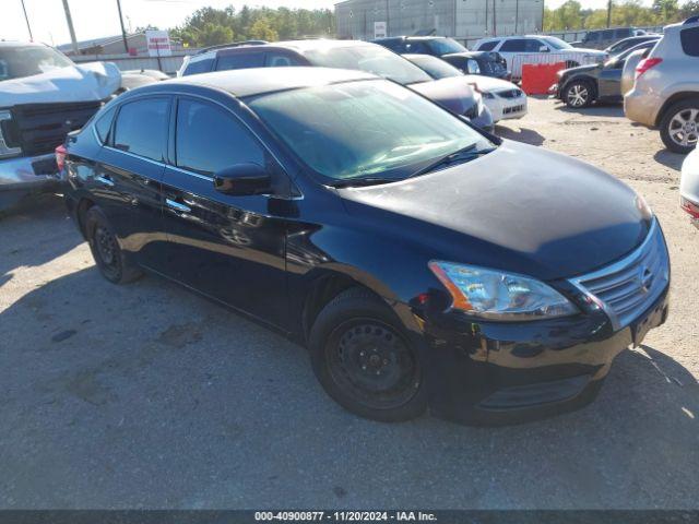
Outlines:
[[[651,222],[636,193],[616,178],[510,141],[466,164],[339,194],[357,219],[382,227],[412,219],[405,238],[435,258],[545,281],[620,259],[642,242]],[[387,213],[408,219],[392,221]]]

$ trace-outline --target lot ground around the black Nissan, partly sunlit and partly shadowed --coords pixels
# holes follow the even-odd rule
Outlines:
[[[301,347],[161,278],[109,285],[47,198],[0,219],[0,508],[699,508],[682,157],[618,107],[532,99],[500,131],[624,179],[665,229],[670,321],[594,404],[497,429],[356,418]]]

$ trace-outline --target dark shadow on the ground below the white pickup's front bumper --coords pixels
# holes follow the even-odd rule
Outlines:
[[[63,200],[55,194],[32,198],[1,216],[0,286],[12,278],[13,270],[43,265],[82,243],[80,233],[66,222],[70,217]]]

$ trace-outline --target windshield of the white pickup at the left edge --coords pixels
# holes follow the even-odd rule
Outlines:
[[[0,82],[73,66],[56,49],[43,46],[0,47]]]

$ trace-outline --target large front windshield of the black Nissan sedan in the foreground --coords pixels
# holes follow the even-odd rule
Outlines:
[[[249,107],[325,183],[402,180],[469,146],[494,144],[422,96],[384,80],[265,94]]]

